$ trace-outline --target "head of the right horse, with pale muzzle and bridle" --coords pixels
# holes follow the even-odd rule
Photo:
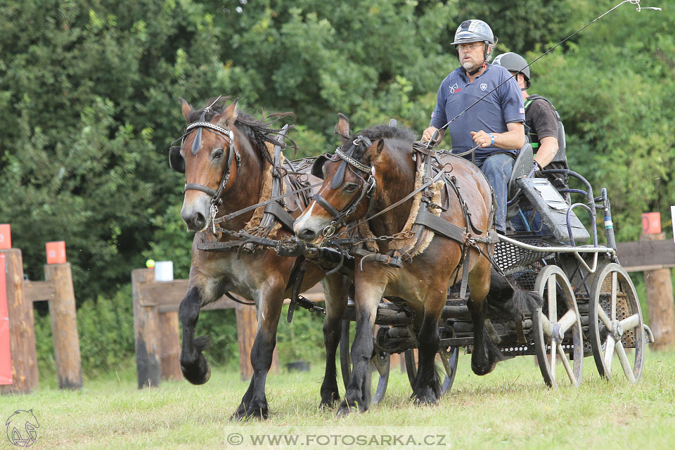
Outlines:
[[[347,221],[364,217],[373,207],[378,185],[376,165],[385,140],[375,139],[378,133],[368,130],[349,136],[349,120],[342,114],[335,130],[342,146],[333,155],[316,158],[311,173],[323,179],[323,184],[293,226],[298,238],[307,242],[330,238]]]

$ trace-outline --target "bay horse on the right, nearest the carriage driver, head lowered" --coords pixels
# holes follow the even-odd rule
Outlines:
[[[380,261],[386,260],[397,255],[391,238],[397,233],[400,236],[409,223],[415,200],[406,200],[406,196],[415,190],[418,165],[424,155],[413,150],[415,139],[408,130],[375,127],[350,136],[349,120],[344,115],[339,117],[336,130],[342,136],[342,146],[335,155],[324,155],[316,161],[313,173],[323,176],[323,185],[295,221],[295,233],[304,241],[319,242],[340,224],[373,217],[366,222],[371,233],[390,238],[380,240]],[[368,362],[373,354],[375,315],[384,296],[404,299],[413,312],[419,355],[413,399],[418,404],[437,401],[440,392],[434,359],[439,349],[438,323],[449,285],[457,274],[463,273],[463,263],[468,266],[468,307],[475,334],[471,367],[478,375],[484,375],[503,359],[484,326],[486,298],[491,289],[491,264],[485,255],[489,255],[489,247],[496,240],[494,231],[488,233],[494,229],[491,187],[480,169],[468,160],[444,155],[442,163],[440,170],[446,171],[446,181],[451,179],[457,189],[439,188],[442,198],[434,201],[446,205],[439,217],[454,224],[461,235],[455,239],[439,232],[427,235],[432,238],[426,248],[412,258],[402,258],[401,267],[375,262],[374,257],[361,259],[360,269],[354,271],[356,335],[351,350],[352,378],[338,416],[366,411],[370,404]],[[401,200],[405,201],[396,205]],[[396,206],[387,210],[392,205]],[[469,245],[472,232],[477,240]],[[514,315],[522,309],[534,309],[534,300],[522,291],[515,292],[508,284],[505,287],[504,280],[499,281],[494,294],[506,293],[510,297],[506,299],[510,304],[502,309]]]

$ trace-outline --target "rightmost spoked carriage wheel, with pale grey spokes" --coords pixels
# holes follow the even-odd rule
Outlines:
[[[619,264],[606,264],[593,277],[589,334],[600,376],[610,379],[616,354],[626,378],[637,383],[644,368],[645,328],[633,282]],[[635,347],[632,362],[626,347]]]

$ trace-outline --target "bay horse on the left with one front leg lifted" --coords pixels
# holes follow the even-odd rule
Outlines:
[[[291,295],[289,279],[297,258],[278,256],[274,250],[265,247],[257,248],[252,253],[210,252],[200,248],[205,248],[205,245],[226,247],[230,243],[233,244],[230,250],[238,250],[242,242],[237,240],[237,231],[250,228],[248,231],[255,233],[262,228],[256,226],[261,224],[256,214],[262,215],[264,207],[227,221],[221,221],[221,218],[228,213],[257,205],[261,198],[269,199],[269,192],[265,197],[263,191],[267,189],[266,186],[269,187],[273,174],[282,176],[285,188],[297,187],[297,184],[291,183],[295,175],[285,173],[293,172],[288,170],[288,166],[286,171],[283,167],[271,167],[271,148],[273,144],[279,144],[275,135],[281,130],[271,128],[273,121],[270,119],[281,115],[255,120],[238,110],[236,101],[224,105],[225,99],[211,99],[206,108],[194,110],[184,99],[180,100],[188,125],[181,146],[170,150],[169,162],[174,170],[185,174],[181,217],[188,230],[195,231],[188,290],[179,307],[183,328],[181,370],[185,378],[195,385],[206,383],[210,378],[210,366],[202,353],[208,339],[195,338],[195,326],[202,307],[227,293],[236,293],[252,300],[258,319],[250,354],[253,376],[231,419],[266,418],[268,404],[265,381],[276,345],[283,300]],[[319,179],[310,176],[309,181]],[[284,204],[292,217],[300,214],[305,206],[302,203],[302,198],[284,198]],[[215,226],[217,223],[219,230]],[[290,219],[290,223],[293,223],[293,219]],[[277,224],[270,238],[273,238],[272,235],[281,239],[293,233]],[[325,271],[319,266],[309,264],[302,290],[321,281],[324,274]],[[347,305],[349,285],[345,285],[340,274],[333,274],[323,280],[323,288],[326,298],[333,305],[327,311],[323,326],[326,374],[321,385],[321,406],[329,406],[340,399],[335,352],[340,341],[340,319]]]

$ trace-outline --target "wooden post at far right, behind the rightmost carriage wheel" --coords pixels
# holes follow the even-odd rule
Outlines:
[[[665,233],[640,236],[641,242],[665,240],[665,238]],[[649,328],[654,333],[655,339],[655,342],[650,345],[650,349],[671,349],[675,347],[675,306],[670,269],[648,270],[644,271],[644,274]]]

